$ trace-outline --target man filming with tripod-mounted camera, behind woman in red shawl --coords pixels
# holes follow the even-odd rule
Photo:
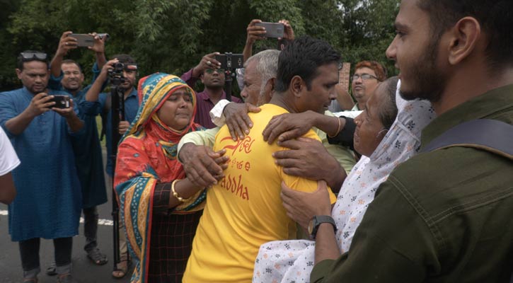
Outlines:
[[[113,88],[121,88],[125,104],[125,120],[120,121],[118,125],[119,134],[125,134],[127,129],[135,119],[139,109],[139,99],[137,98],[137,88],[134,88],[137,79],[137,64],[135,60],[127,54],[117,54],[114,59],[108,61],[100,71],[98,78],[93,82],[91,88],[86,93],[86,98],[81,101],[81,109],[88,115],[99,115],[108,111],[105,136],[107,137],[107,165],[105,171],[109,176],[108,183],[112,184],[114,175],[113,160],[113,121],[112,121],[112,103],[110,93],[100,93],[103,84],[111,79]],[[111,77],[111,78],[110,78]],[[128,251],[123,231],[123,223],[120,221],[120,263],[117,270],[113,271],[113,277],[124,277],[128,269]]]

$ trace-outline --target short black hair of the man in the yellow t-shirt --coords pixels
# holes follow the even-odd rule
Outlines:
[[[312,80],[318,75],[318,67],[332,63],[340,63],[340,54],[328,42],[300,37],[279,54],[276,91],[287,91],[294,76],[301,76],[310,90]]]

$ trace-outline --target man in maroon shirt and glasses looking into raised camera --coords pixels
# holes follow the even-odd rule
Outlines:
[[[210,110],[214,108],[219,100],[226,99],[226,93],[223,89],[224,69],[221,69],[221,63],[215,59],[216,54],[219,54],[219,52],[204,55],[196,67],[190,69],[181,77],[191,88],[194,88],[198,79],[204,84],[204,90],[196,93],[197,112],[194,122],[207,129],[216,127],[210,118]],[[231,100],[242,103],[242,100],[235,96],[231,96]]]

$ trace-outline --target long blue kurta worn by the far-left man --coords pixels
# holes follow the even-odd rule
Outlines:
[[[12,241],[75,236],[82,200],[71,139],[81,138],[83,131],[71,134],[64,117],[48,111],[13,135],[7,120],[23,112],[32,98],[26,88],[0,93],[0,125],[21,161],[13,171],[17,195],[8,207],[9,233]]]

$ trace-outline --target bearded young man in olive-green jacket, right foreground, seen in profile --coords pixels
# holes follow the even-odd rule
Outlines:
[[[438,117],[422,146],[475,119],[513,124],[512,1],[403,0],[386,51],[406,99],[430,100]],[[376,192],[348,253],[334,227],[316,226],[311,282],[509,282],[513,268],[513,163],[473,147],[414,156]],[[287,206],[294,195],[282,191]],[[330,215],[309,195],[305,214]],[[290,212],[294,218],[299,211]],[[340,228],[340,227],[339,227]]]

